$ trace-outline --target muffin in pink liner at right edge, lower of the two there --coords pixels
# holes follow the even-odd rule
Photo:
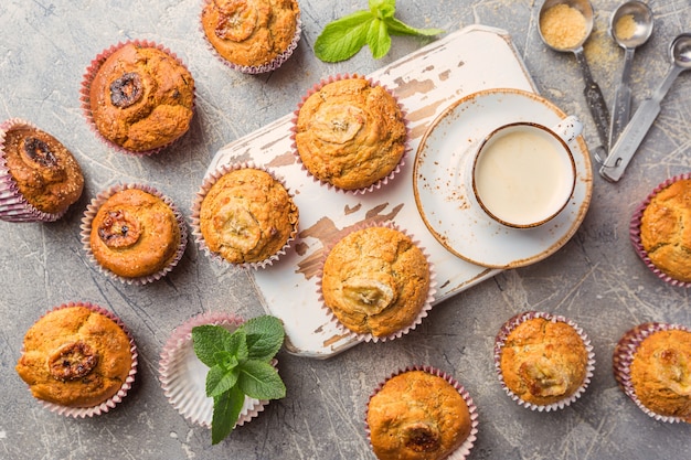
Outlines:
[[[624,333],[614,350],[619,387],[650,417],[691,424],[691,330],[642,323]]]

